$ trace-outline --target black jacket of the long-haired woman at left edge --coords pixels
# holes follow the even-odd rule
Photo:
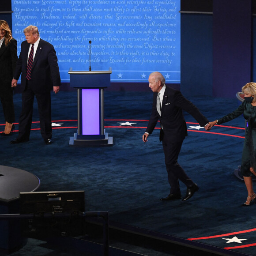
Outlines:
[[[7,46],[3,42],[0,48],[0,80],[4,83],[10,83],[10,86],[17,59],[17,41],[11,38]]]

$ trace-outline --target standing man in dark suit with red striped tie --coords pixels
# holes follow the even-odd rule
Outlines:
[[[12,144],[29,140],[34,96],[38,102],[41,136],[45,144],[52,143],[51,94],[60,90],[60,71],[53,45],[40,38],[36,26],[24,29],[26,41],[21,44],[12,86],[21,74],[22,110],[19,117],[19,135]]]

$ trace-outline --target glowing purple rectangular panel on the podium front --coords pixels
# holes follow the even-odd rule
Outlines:
[[[82,134],[100,134],[99,89],[82,89]]]

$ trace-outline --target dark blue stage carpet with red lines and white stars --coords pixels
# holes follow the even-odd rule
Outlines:
[[[187,98],[211,121],[239,105],[235,97]],[[14,99],[18,120],[21,94],[15,94]],[[141,139],[151,112],[152,93],[105,91],[105,129],[113,136],[112,147],[69,146],[77,127],[76,103],[76,92],[52,95],[52,120],[60,125],[53,127],[52,145],[43,143],[35,104],[30,141],[11,145],[9,141],[17,134],[1,137],[0,165],[37,175],[41,181],[38,191],[84,190],[86,211],[109,211],[111,221],[184,239],[205,237],[195,241],[256,255],[256,205],[241,207],[247,191],[233,175],[241,161],[243,117],[210,132],[188,129],[179,162],[200,190],[187,202],[162,202],[159,199],[168,195],[169,184],[159,129],[146,144]],[[191,124],[196,120],[184,115],[188,127],[197,126]],[[2,111],[0,120],[3,131]],[[127,120],[134,124],[120,124]],[[183,196],[186,193],[184,184],[181,192]],[[227,240],[233,237],[237,239]]]

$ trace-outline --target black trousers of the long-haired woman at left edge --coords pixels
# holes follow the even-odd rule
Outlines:
[[[15,113],[11,81],[8,83],[0,81],[0,100],[3,106],[5,121],[12,124],[15,121]]]

